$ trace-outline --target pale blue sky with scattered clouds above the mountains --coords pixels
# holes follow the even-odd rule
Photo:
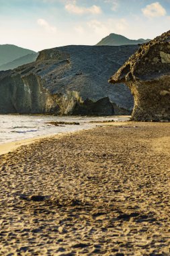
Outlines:
[[[34,51],[170,30],[170,0],[0,0],[0,44]]]

